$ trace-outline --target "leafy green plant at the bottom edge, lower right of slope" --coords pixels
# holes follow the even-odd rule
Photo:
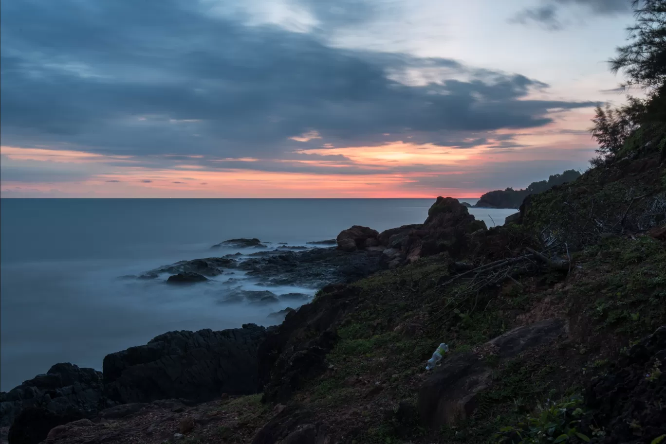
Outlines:
[[[515,425],[501,427],[495,434],[498,444],[546,444],[589,442],[577,426],[586,415],[580,397],[572,396],[559,402],[547,400],[537,411],[526,415]]]

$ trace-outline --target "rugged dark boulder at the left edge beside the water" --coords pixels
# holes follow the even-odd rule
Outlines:
[[[79,417],[90,417],[111,405],[113,401],[103,395],[100,371],[59,363],[47,373],[0,393],[1,425],[10,425],[23,409],[30,407],[47,409],[55,415],[76,412]]]

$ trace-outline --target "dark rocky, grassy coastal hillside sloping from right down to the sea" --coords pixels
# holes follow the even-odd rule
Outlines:
[[[595,168],[490,230],[452,198],[424,224],[354,226],[331,257],[376,268],[325,286],[280,326],[167,333],[109,355],[103,375],[27,381],[12,402],[77,384],[95,394],[77,398],[79,421],[59,411],[47,443],[518,443],[551,414],[576,427],[553,441],[658,443],[665,169],[655,155]],[[441,342],[450,352],[426,371]],[[17,429],[53,425],[28,413]]]

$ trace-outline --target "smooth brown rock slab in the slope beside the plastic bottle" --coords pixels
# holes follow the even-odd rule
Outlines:
[[[515,328],[486,345],[495,349],[503,361],[566,333],[565,320],[548,319]],[[436,429],[470,417],[478,407],[478,393],[488,387],[491,373],[492,367],[471,351],[444,359],[419,390],[421,421]]]

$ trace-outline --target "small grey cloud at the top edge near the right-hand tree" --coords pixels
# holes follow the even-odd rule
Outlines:
[[[559,19],[562,7],[583,7],[587,13],[593,15],[615,15],[631,11],[631,0],[543,0],[543,3],[545,4],[519,11],[509,19],[509,23],[537,23],[550,31],[559,31],[565,27]]]

